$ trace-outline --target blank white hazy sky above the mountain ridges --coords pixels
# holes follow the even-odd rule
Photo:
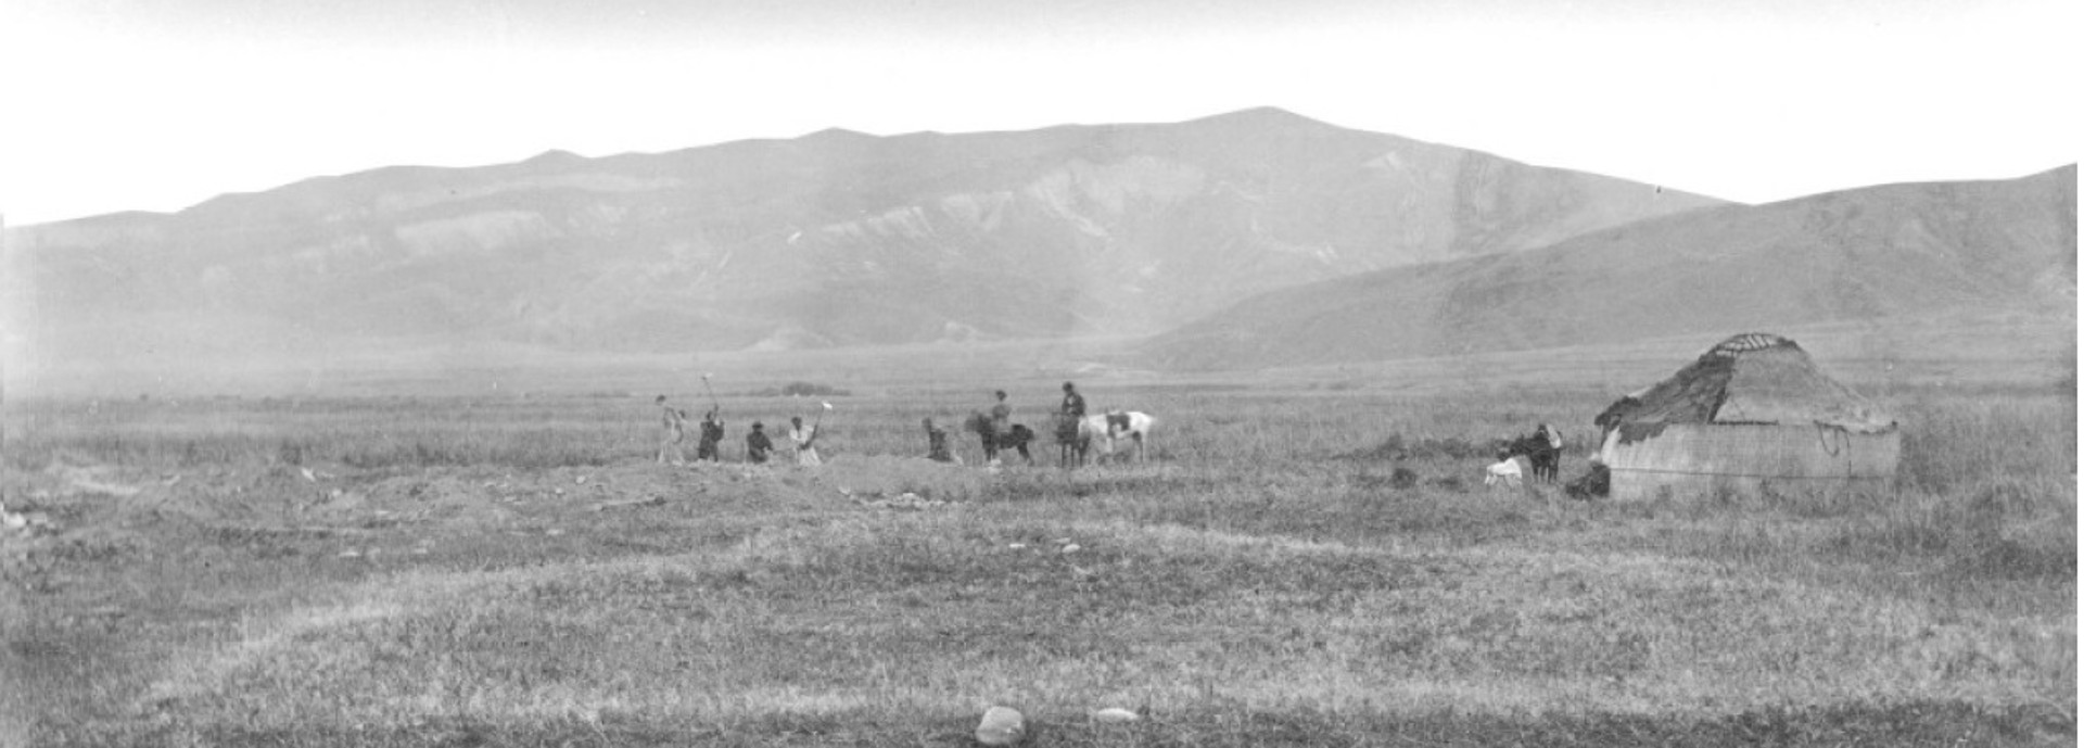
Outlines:
[[[2080,6],[0,0],[0,213],[1248,106],[1744,202],[2017,177],[2078,160]]]

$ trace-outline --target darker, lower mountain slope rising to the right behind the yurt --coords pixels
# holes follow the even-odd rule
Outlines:
[[[1263,294],[1152,338],[1146,365],[1390,360],[1959,310],[2074,319],[2076,227],[2076,165],[1719,206]]]

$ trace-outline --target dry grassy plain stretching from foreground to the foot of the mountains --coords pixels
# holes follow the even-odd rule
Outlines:
[[[767,381],[692,467],[648,390],[8,402],[0,744],[2078,738],[2074,383],[1888,388],[1888,492],[1613,504],[1480,473],[1536,421],[1580,473],[1601,385],[1092,381],[1152,458],[1061,471],[975,467],[957,379],[819,379],[821,469],[736,463],[815,413]]]

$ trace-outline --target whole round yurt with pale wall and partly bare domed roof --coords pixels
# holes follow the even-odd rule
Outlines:
[[[1723,340],[1594,423],[1615,500],[1886,488],[1903,452],[1894,417],[1767,333]]]

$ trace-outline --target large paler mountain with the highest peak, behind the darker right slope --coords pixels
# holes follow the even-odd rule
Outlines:
[[[742,350],[1150,333],[1719,204],[1282,110],[388,167],[8,231],[13,329],[140,346]]]

